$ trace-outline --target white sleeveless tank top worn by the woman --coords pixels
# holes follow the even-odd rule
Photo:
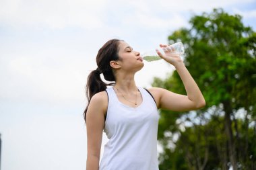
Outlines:
[[[150,93],[138,89],[142,103],[137,108],[121,103],[113,87],[106,89],[104,132],[109,140],[104,146],[100,170],[158,170],[159,113]]]

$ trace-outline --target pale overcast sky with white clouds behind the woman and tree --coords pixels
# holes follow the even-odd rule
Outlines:
[[[84,86],[98,49],[110,38],[155,49],[214,7],[255,30],[255,0],[0,0],[1,169],[86,169]],[[137,85],[172,70],[146,62]]]

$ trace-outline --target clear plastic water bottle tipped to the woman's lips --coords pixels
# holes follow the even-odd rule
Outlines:
[[[162,51],[163,52],[170,51],[170,54],[179,54],[179,55],[183,55],[185,52],[182,42],[176,42],[174,44],[166,46],[165,48],[162,48]],[[142,58],[143,60],[146,60],[148,62],[162,59],[160,56],[158,56],[156,51],[145,52],[144,54],[142,54]]]

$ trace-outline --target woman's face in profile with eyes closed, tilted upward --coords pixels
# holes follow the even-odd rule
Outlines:
[[[133,50],[129,44],[124,41],[119,42],[119,64],[121,69],[127,71],[139,71],[143,66],[143,58],[140,53]]]

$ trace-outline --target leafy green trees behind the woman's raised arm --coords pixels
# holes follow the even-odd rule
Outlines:
[[[191,28],[168,37],[170,44],[182,41],[185,45],[185,65],[207,105],[179,114],[161,110],[158,139],[164,152],[159,157],[160,169],[228,169],[228,164],[235,170],[256,169],[256,34],[241,19],[214,9],[193,16]],[[164,80],[155,78],[152,85],[185,94],[176,71]],[[180,145],[187,150],[177,151]],[[184,165],[177,168],[168,157]]]

